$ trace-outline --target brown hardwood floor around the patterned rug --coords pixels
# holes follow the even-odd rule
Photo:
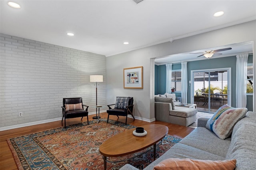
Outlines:
[[[89,115],[89,121],[93,120],[92,117],[95,115]],[[100,116],[102,118],[107,118],[107,113],[100,113]],[[125,123],[125,117],[116,117],[116,116],[110,116],[110,119],[115,121],[120,121]],[[86,118],[83,119],[83,121],[86,121]],[[67,119],[66,123],[67,125],[72,125],[76,123],[80,123],[81,118],[73,118],[73,119]],[[165,125],[169,128],[168,134],[172,136],[177,136],[180,138],[184,138],[187,136],[190,132],[192,132],[193,128],[183,127],[179,125],[172,125],[170,123],[160,122],[160,121],[154,121],[154,122],[145,122],[145,121],[139,121],[136,120],[133,121],[133,119],[128,118],[127,123],[134,126],[142,126],[142,125],[149,125],[149,124],[161,124]],[[1,170],[17,170],[17,166],[14,162],[14,158],[12,156],[12,153],[10,151],[10,148],[6,142],[6,139],[24,135],[24,134],[30,134],[34,132],[40,132],[43,130],[47,130],[50,128],[56,128],[56,127],[62,127],[61,121],[51,122],[51,123],[44,123],[40,125],[34,125],[29,127],[22,127],[22,128],[16,128],[11,130],[4,130],[0,132],[0,169]]]

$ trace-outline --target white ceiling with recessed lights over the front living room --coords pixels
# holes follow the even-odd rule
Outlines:
[[[1,33],[106,56],[256,20],[256,0],[13,0],[20,9],[7,2],[0,0]]]

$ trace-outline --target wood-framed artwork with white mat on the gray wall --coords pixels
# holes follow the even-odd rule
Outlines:
[[[143,67],[124,68],[124,89],[143,89]]]

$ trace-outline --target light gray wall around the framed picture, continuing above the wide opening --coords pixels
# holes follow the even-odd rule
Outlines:
[[[246,22],[228,28],[198,34],[174,40],[172,43],[166,42],[143,49],[138,49],[118,55],[107,57],[107,104],[114,103],[116,96],[134,97],[134,112],[137,119],[145,121],[154,120],[154,64],[152,58],[195,51],[229,45],[241,42],[256,42],[256,21]],[[256,50],[256,43],[253,47]],[[256,63],[254,57],[253,63]],[[124,89],[123,88],[123,69],[127,67],[143,66],[144,69],[144,88],[143,89]],[[256,69],[254,69],[256,75]],[[256,80],[254,78],[254,88]],[[235,97],[235,96],[233,96]],[[256,101],[254,92],[254,101]],[[255,103],[255,102],[253,102]],[[254,111],[256,105],[254,105]]]

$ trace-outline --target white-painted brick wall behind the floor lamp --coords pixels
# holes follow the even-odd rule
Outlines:
[[[62,117],[64,97],[82,97],[95,112],[94,74],[104,77],[98,105],[106,105],[104,55],[0,34],[0,127]]]

